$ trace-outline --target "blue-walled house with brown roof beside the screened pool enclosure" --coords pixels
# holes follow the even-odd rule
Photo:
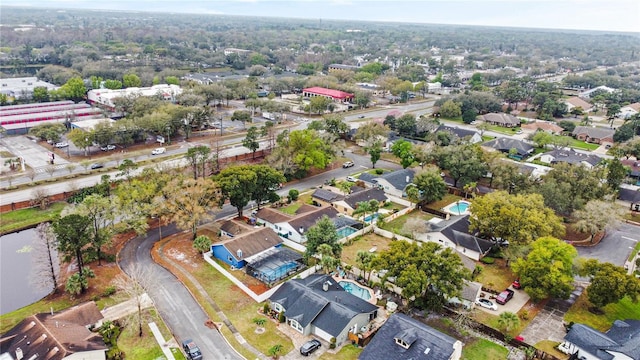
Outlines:
[[[282,239],[271,228],[242,234],[232,239],[211,245],[211,253],[216,259],[241,269],[247,259],[273,248],[282,246]]]

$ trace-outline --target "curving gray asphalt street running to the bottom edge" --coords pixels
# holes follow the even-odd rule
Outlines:
[[[163,236],[175,234],[174,225],[163,227]],[[205,326],[208,319],[187,288],[168,270],[151,259],[151,247],[159,240],[159,232],[152,230],[147,237],[129,241],[120,252],[119,264],[128,271],[132,264],[151,268],[154,286],[146,289],[158,312],[178,343],[191,338],[202,350],[205,359],[240,360],[242,356],[227,343],[218,330]]]

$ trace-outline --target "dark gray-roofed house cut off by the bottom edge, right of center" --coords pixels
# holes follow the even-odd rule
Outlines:
[[[462,342],[407,315],[395,313],[365,346],[358,360],[458,360]]]

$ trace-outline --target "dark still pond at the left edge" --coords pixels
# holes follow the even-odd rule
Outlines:
[[[34,229],[0,236],[0,315],[32,304],[49,294],[30,284]]]

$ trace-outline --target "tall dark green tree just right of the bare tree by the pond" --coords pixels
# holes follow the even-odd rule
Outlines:
[[[91,220],[82,215],[70,214],[53,222],[53,232],[58,239],[58,251],[65,255],[65,259],[75,257],[78,265],[78,276],[81,280],[80,292],[87,290],[84,273],[84,248],[91,241],[89,227]]]

